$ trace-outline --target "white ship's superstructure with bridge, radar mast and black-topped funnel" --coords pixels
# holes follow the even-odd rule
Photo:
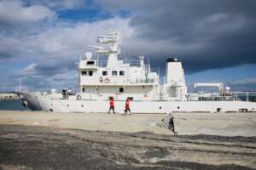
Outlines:
[[[166,82],[160,84],[157,72],[151,71],[149,63],[144,63],[144,56],[127,62],[118,59],[119,32],[108,33],[108,37],[98,37],[102,46],[96,48],[96,54],[108,55],[107,65],[97,57],[86,53],[79,59],[79,92],[82,99],[106,100],[184,100],[187,88],[181,62],[168,59]]]

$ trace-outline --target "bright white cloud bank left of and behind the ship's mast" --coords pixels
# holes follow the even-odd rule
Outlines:
[[[108,31],[118,30],[122,40],[130,42],[133,34],[128,23],[129,19],[113,18],[93,23],[58,23],[37,33],[0,34],[3,37],[0,57],[1,53],[11,54],[13,61],[23,65],[26,62],[16,73],[28,75],[28,86],[60,88],[69,84],[73,87],[77,76],[75,61],[84,57],[84,52],[94,51],[88,46],[95,45],[96,37]]]

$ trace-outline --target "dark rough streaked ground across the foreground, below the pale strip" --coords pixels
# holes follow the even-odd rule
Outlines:
[[[0,125],[0,169],[253,169],[255,142]]]

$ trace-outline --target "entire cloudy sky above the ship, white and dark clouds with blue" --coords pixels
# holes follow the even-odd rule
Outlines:
[[[143,54],[164,76],[175,56],[188,84],[256,90],[255,8],[255,0],[0,0],[0,91],[18,77],[30,90],[75,87],[75,62],[114,30],[120,59]]]

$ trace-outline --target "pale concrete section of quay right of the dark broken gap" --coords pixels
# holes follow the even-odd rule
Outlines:
[[[256,136],[256,113],[176,113],[175,130],[178,134]]]

